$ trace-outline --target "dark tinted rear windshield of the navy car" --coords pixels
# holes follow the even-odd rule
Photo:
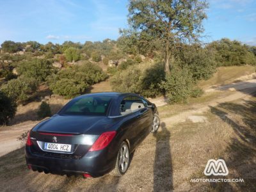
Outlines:
[[[111,97],[88,96],[73,99],[61,109],[59,115],[106,115]]]

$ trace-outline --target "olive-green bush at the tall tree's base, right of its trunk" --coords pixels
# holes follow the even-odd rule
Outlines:
[[[194,84],[193,76],[188,68],[172,68],[170,75],[162,81],[161,87],[170,103],[185,103],[191,97]]]

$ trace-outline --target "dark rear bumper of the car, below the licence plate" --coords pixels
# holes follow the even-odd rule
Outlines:
[[[26,163],[38,172],[58,175],[81,175],[88,173],[92,177],[100,177],[109,173],[115,167],[116,156],[109,157],[108,150],[87,152],[79,159],[61,159],[42,154],[33,154],[26,146]]]

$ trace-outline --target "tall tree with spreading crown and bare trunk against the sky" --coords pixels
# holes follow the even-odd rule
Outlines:
[[[168,74],[177,42],[197,41],[204,31],[207,7],[204,0],[130,0],[128,22],[144,45],[156,40],[162,45],[164,71]]]

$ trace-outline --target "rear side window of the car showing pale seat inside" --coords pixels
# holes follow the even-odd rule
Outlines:
[[[143,101],[140,99],[140,97],[125,97],[120,104],[120,114],[126,115],[128,113],[138,111],[142,108],[145,108],[145,104],[143,104]]]

